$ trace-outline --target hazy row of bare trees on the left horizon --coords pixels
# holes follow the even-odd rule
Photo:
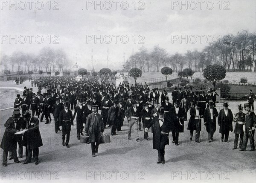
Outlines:
[[[4,67],[7,69],[11,66],[12,71],[14,71],[15,68],[20,71],[22,66],[30,71],[63,71],[64,66],[66,66],[66,68],[70,66],[70,60],[62,49],[54,50],[49,47],[44,47],[38,54],[15,51],[12,55],[8,56],[1,53],[0,63],[1,68]]]

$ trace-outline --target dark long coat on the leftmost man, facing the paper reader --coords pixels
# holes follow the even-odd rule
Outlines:
[[[20,129],[24,129],[24,121],[22,118],[19,118],[17,121],[17,126],[15,129],[15,123],[13,117],[9,117],[6,123],[4,124],[6,130],[3,134],[2,142],[0,147],[4,151],[13,151],[17,149],[17,141],[22,140],[22,135],[15,135],[15,133]]]

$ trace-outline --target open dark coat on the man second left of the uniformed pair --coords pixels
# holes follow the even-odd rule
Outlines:
[[[214,116],[215,114],[215,116]],[[210,108],[208,107],[207,109],[205,109],[204,111],[204,123],[206,123],[206,131],[207,132],[212,132],[214,133],[216,131],[216,117],[218,117],[218,111],[217,109],[214,107],[212,108],[212,116],[213,116],[213,121],[211,122],[211,112],[210,112]]]

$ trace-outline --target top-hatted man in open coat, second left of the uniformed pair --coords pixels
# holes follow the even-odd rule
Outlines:
[[[216,117],[218,117],[218,111],[214,107],[212,100],[209,100],[209,107],[204,111],[204,125],[208,132],[208,142],[212,142],[213,134],[216,131]]]

